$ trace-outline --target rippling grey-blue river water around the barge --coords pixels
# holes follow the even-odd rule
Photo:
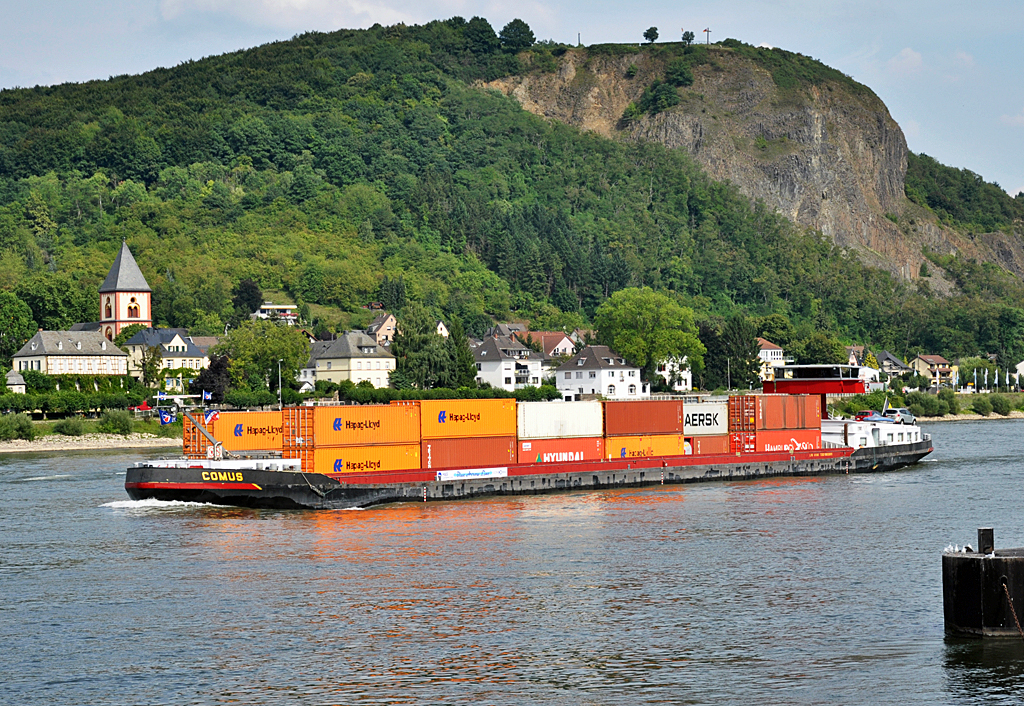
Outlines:
[[[926,430],[888,474],[330,512],[0,457],[0,703],[1020,703],[1020,642],[943,638],[940,554],[1024,546],[1024,422]]]

